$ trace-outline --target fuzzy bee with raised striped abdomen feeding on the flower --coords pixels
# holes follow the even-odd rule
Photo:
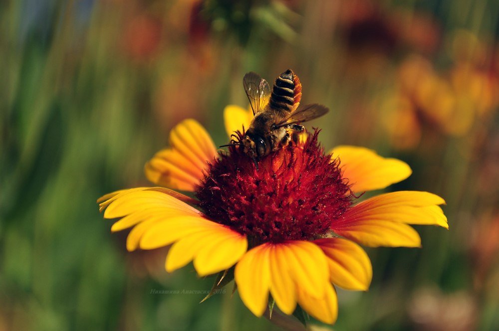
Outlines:
[[[291,69],[275,79],[272,91],[267,81],[254,72],[243,77],[243,86],[250,100],[253,119],[239,142],[232,140],[231,144],[224,146],[242,145],[244,152],[255,164],[257,159],[288,146],[291,142],[296,143],[299,134],[304,131],[300,123],[313,120],[329,111],[319,104],[299,106],[301,83]]]

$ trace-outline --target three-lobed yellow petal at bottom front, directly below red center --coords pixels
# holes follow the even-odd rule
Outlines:
[[[329,269],[317,245],[294,240],[251,249],[236,265],[235,279],[241,299],[256,316],[265,311],[269,291],[279,309],[292,314],[298,290],[306,297],[326,296]]]

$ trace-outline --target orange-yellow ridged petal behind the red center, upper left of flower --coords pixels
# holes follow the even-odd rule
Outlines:
[[[156,153],[145,165],[146,176],[156,184],[194,191],[216,156],[217,149],[203,126],[184,120],[170,132],[170,148]]]

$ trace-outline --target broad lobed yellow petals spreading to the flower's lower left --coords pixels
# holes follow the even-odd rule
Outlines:
[[[99,201],[105,218],[118,218],[112,231],[133,226],[127,237],[127,249],[154,249],[174,244],[169,252],[167,271],[178,269],[194,260],[200,276],[232,267],[248,248],[248,241],[227,226],[203,217],[185,201],[191,198],[163,187],[117,191]],[[179,254],[179,248],[182,248]]]

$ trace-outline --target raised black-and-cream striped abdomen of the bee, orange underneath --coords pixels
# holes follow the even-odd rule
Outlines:
[[[291,69],[286,70],[275,79],[269,105],[273,109],[293,111],[301,99],[301,83]]]

